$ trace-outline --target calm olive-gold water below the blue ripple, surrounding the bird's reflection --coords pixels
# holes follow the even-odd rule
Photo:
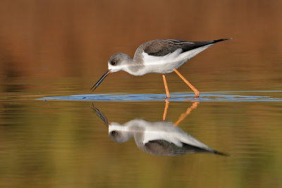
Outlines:
[[[164,101],[93,104],[120,124],[135,119],[159,122],[165,107]],[[109,138],[90,101],[5,101],[1,106],[4,187],[281,184],[281,101],[203,101],[178,125],[231,156],[154,156],[138,149],[133,138],[118,144]],[[175,123],[190,106],[189,101],[171,101],[166,120]]]

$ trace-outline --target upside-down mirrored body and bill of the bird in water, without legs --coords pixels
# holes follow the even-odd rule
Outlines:
[[[121,125],[119,123],[109,123],[97,108],[92,107],[92,109],[109,126],[109,137],[115,142],[127,142],[131,137],[134,137],[136,145],[142,151],[158,156],[176,156],[185,153],[204,152],[226,156],[225,153],[215,151],[198,141],[187,132],[181,130],[180,127],[175,127],[171,122],[148,122],[135,119]]]

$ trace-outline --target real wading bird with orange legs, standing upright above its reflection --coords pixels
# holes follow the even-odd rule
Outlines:
[[[200,92],[181,75],[177,68],[204,51],[216,42],[228,39],[218,39],[205,42],[185,42],[183,40],[159,39],[141,44],[135,51],[134,58],[130,58],[127,54],[116,53],[108,61],[109,69],[91,88],[96,89],[98,85],[109,75],[109,73],[124,70],[131,75],[140,76],[147,73],[161,73],[164,79],[164,87],[166,89],[166,97],[170,98],[166,77],[164,74],[175,71],[178,76],[195,92],[198,97]]]

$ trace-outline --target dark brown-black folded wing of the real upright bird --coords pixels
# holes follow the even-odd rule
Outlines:
[[[153,40],[144,44],[144,51],[150,56],[166,56],[167,54],[173,53],[173,51],[176,51],[177,49],[182,49],[181,53],[183,53],[185,51],[197,49],[209,44],[215,44],[216,42],[221,42],[224,40],[228,39],[218,39],[204,42],[186,42],[183,40],[173,39]]]

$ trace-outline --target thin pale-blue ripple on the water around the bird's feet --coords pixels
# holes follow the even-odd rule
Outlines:
[[[274,96],[282,91],[235,91],[235,92],[202,92],[200,98],[194,94],[172,93],[169,101],[282,101],[282,97]],[[165,94],[78,94],[70,96],[49,96],[39,100],[67,101],[163,101]]]

